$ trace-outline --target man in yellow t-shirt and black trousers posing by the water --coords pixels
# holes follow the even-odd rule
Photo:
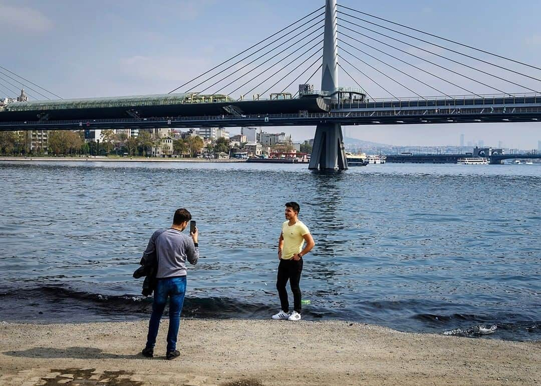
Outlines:
[[[286,203],[286,221],[282,224],[282,232],[278,240],[278,277],[276,289],[280,296],[281,311],[272,316],[273,319],[301,320],[301,289],[299,282],[302,272],[302,257],[314,248],[314,239],[308,227],[299,220],[299,204]],[[302,245],[306,241],[304,249]],[[289,314],[289,301],[286,284],[293,292],[293,312]]]

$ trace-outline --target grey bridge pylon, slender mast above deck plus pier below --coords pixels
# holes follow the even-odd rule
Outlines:
[[[338,19],[337,0],[326,0],[325,33],[321,91],[334,94],[338,89]],[[338,95],[332,96],[338,102]],[[315,129],[314,147],[308,169],[347,169],[342,127],[337,123],[321,123]]]

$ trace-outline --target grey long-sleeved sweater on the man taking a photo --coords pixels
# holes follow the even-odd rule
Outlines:
[[[158,271],[156,278],[186,276],[186,260],[196,264],[199,260],[199,247],[194,245],[192,237],[173,228],[160,229],[150,237],[143,259],[156,252]]]

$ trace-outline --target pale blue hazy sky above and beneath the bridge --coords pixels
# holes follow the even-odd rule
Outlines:
[[[541,32],[537,28],[538,15],[541,14],[541,2],[538,0],[514,2],[511,6],[509,2],[503,0],[478,0],[475,2],[471,0],[453,2],[338,0],[338,3],[541,67]],[[295,0],[294,2],[291,0],[155,0],[153,2],[139,0],[117,0],[115,2],[102,0],[92,2],[0,0],[0,31],[2,34],[0,65],[63,98],[163,94],[213,68],[216,64],[236,55],[261,39],[274,34],[322,5],[324,5],[323,0]],[[347,12],[366,18],[352,11]],[[352,18],[349,20],[363,24]],[[375,19],[370,20],[382,23]],[[366,32],[364,29],[355,28],[351,23],[340,23]],[[368,24],[363,25],[369,26]],[[412,33],[398,26],[386,25]],[[374,30],[385,32],[377,27]],[[390,96],[375,82],[384,86],[393,95],[399,97],[414,95],[390,78],[398,79],[401,83],[409,86],[411,90],[423,96],[441,95],[430,86],[448,95],[467,94],[463,89],[456,88],[445,81],[393,60],[365,45],[356,44],[354,41],[348,40],[344,34],[364,39],[339,26],[339,35],[342,41],[352,43],[375,58],[392,64],[429,85],[426,86],[414,81],[382,64],[377,59],[370,58],[345,43],[339,43],[343,46],[339,48],[339,53],[353,63],[357,69],[370,76],[374,82],[348,66],[342,59],[340,59],[341,64],[344,64],[345,70],[374,98]],[[437,41],[419,34],[415,36],[429,41]],[[467,54],[474,54],[489,62],[481,63],[450,54],[427,43],[412,41],[404,36],[401,38],[428,51],[451,57],[456,61],[490,72],[521,86],[541,90],[540,81],[496,69],[489,63],[501,65],[504,68],[510,68],[539,79],[541,79],[540,70],[438,41],[442,45],[459,49]],[[385,38],[382,40],[385,41]],[[464,89],[478,94],[497,93],[487,86],[440,69],[420,59],[412,58],[404,52],[377,45],[370,40],[366,40],[366,42],[370,42],[385,52],[426,69],[447,81],[456,83]],[[499,90],[530,92],[494,77],[479,74],[478,71],[459,64],[441,61],[427,54],[426,51],[419,51],[411,46],[392,41],[387,42],[406,52],[443,64],[459,74],[496,86]],[[306,48],[309,46],[311,45],[308,44]],[[346,48],[346,50],[342,50],[342,48]],[[299,48],[299,52],[302,51],[304,48]],[[348,56],[346,51],[351,51],[352,54],[364,59],[390,78],[360,61],[355,62],[355,59]],[[307,65],[310,63],[312,61],[308,61]],[[237,64],[233,69],[239,69],[240,66],[246,64],[248,64],[247,69],[252,69],[257,63],[250,65],[246,60]],[[317,66],[318,64],[314,66],[314,70]],[[312,72],[308,71],[307,74]],[[0,77],[6,79],[2,74]],[[319,72],[311,80],[316,89],[320,88],[320,78]],[[3,82],[2,79],[0,82]],[[296,91],[295,88],[299,83],[302,82],[299,81],[292,85],[290,88],[293,90],[292,93]],[[342,70],[339,71],[339,84],[346,87],[357,87],[357,84]],[[10,88],[14,87],[10,86]],[[275,91],[281,91],[281,89]],[[9,91],[0,87],[0,97],[7,92]],[[458,145],[460,134],[464,134],[466,143],[482,140],[485,144],[495,146],[501,141],[506,147],[534,149],[537,148],[538,141],[541,140],[540,125],[541,123],[391,125],[345,127],[344,129],[345,134],[349,137],[393,145]],[[295,141],[311,138],[314,134],[313,127],[285,127],[268,130],[285,131],[287,134],[291,134]]]

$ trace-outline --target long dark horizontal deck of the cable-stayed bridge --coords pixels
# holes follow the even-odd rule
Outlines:
[[[323,99],[323,98],[318,98]],[[241,127],[241,126],[314,126],[319,123],[340,123],[342,125],[374,124],[440,124],[480,122],[532,122],[541,121],[541,95],[497,98],[454,98],[428,101],[375,101],[341,103],[332,106],[330,112],[307,112],[294,109],[278,114],[266,114],[265,103],[261,101],[257,114],[234,114],[223,111],[220,115],[200,116],[151,116],[140,118],[77,118],[55,121],[0,122],[0,130],[52,130],[81,128],[199,128],[199,127]],[[301,101],[302,99],[293,99]],[[328,103],[329,101],[327,101]],[[253,103],[253,102],[250,102]],[[312,101],[314,103],[314,101]],[[275,104],[276,107],[279,104]],[[284,106],[284,104],[281,104]],[[268,105],[270,107],[270,104]],[[195,106],[194,106],[195,107]],[[316,107],[321,107],[317,102]],[[223,109],[222,109],[223,110]],[[200,111],[200,110],[195,110]],[[269,111],[269,110],[267,110]],[[3,113],[0,113],[3,114]],[[4,117],[5,119],[6,117]]]

